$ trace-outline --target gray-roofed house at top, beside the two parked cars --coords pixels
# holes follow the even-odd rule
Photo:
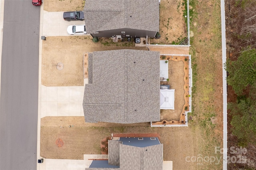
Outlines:
[[[154,37],[159,31],[159,0],[86,0],[84,21],[93,37]]]

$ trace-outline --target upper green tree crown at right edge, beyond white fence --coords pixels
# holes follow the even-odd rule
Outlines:
[[[226,70],[227,82],[237,95],[241,95],[248,86],[256,86],[256,51],[249,49],[241,53],[237,61],[228,60]]]

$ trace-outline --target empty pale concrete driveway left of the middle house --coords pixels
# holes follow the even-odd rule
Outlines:
[[[41,118],[45,116],[84,116],[84,86],[41,86]]]

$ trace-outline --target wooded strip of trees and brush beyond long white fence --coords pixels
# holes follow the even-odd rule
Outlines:
[[[256,169],[256,1],[226,0],[228,148],[247,153],[229,170]]]

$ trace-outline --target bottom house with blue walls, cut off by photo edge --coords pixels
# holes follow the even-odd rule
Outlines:
[[[108,140],[108,160],[93,160],[86,170],[162,170],[163,144],[157,137]]]

